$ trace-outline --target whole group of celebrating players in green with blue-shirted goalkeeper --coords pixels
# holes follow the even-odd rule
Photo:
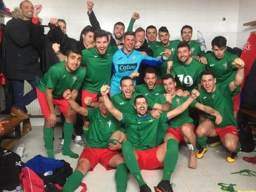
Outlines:
[[[87,7],[91,12],[93,3],[87,2]],[[65,117],[62,154],[79,158],[64,192],[78,188],[97,163],[107,170],[116,168],[118,192],[126,191],[128,170],[140,191],[150,192],[140,170],[163,167],[157,191],[173,192],[170,181],[181,140],[189,148],[188,166],[192,169],[196,168],[196,158],[203,158],[207,152],[207,136],[219,136],[230,151],[226,161],[236,161],[240,151],[236,114],[244,61],[226,51],[225,37],[215,37],[212,52],[206,54],[199,43],[191,40],[191,26],[182,27],[182,41],[169,41],[164,26],[158,31],[151,25],[146,31],[139,27],[132,32],[136,19],[139,14],[134,13],[125,33],[123,23],[114,25],[117,46],[109,45],[108,32],[92,28],[83,33],[87,49],[61,53],[60,45],[53,44],[60,62],[39,80],[37,96],[45,117],[43,139],[48,157],[54,158],[57,105]],[[64,24],[57,19],[51,22],[62,27]],[[135,50],[145,43],[145,36],[153,57]],[[142,65],[146,68],[139,74]],[[136,85],[139,77],[145,83]],[[82,106],[75,101],[80,89]],[[84,117],[87,141],[80,157],[70,149],[76,113]]]

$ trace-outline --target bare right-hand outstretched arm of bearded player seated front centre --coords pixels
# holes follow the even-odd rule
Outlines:
[[[194,99],[199,97],[199,95],[200,95],[200,93],[197,90],[193,90],[191,93],[191,96],[187,99],[187,101],[185,101],[184,103],[179,105],[177,108],[169,111],[167,113],[167,117],[169,119],[171,119],[171,118],[176,117],[179,114],[183,113],[189,107],[189,105],[194,101]]]

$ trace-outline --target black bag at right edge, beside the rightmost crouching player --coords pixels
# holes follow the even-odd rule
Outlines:
[[[256,141],[253,140],[252,129],[248,124],[238,123],[238,135],[241,144],[241,151],[250,153],[256,146]]]

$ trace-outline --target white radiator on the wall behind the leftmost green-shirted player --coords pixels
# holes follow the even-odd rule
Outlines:
[[[32,87],[28,82],[25,81],[24,83],[24,95],[28,93]],[[32,116],[43,116],[40,105],[38,103],[38,99],[35,99],[29,105],[26,106],[27,113],[30,113]],[[56,114],[60,114],[58,108],[55,108]]]

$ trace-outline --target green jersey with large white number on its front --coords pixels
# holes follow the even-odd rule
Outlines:
[[[188,65],[184,65],[180,61],[174,63],[171,69],[171,75],[176,77],[176,82],[180,82],[183,90],[191,93],[193,89],[197,89],[197,84],[201,81],[201,73],[203,71],[205,71],[204,65],[192,59]]]

